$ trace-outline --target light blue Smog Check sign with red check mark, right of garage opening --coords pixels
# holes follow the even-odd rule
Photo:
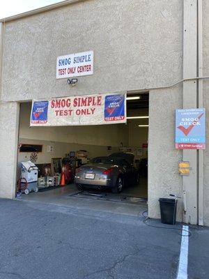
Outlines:
[[[176,110],[176,149],[206,149],[206,110]]]

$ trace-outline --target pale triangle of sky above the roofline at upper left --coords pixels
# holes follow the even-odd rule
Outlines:
[[[61,0],[1,0],[0,19],[57,2]]]

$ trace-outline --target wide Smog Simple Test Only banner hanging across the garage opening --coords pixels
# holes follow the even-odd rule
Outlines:
[[[33,100],[31,126],[126,123],[126,93]]]

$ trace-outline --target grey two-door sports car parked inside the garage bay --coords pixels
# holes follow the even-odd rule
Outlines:
[[[94,158],[91,163],[79,167],[75,174],[79,189],[111,188],[113,193],[120,193],[123,186],[138,182],[139,174],[134,168],[132,153],[118,152],[108,157]]]

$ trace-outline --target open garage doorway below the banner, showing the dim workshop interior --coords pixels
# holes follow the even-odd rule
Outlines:
[[[36,195],[38,199],[41,193],[45,193],[48,197],[52,197],[52,193],[57,193],[69,197],[117,202],[146,201],[148,198],[148,103],[148,93],[127,95],[126,124],[31,128],[29,126],[31,102],[22,103],[17,165],[18,187],[22,188],[22,197],[30,198]],[[128,155],[128,158],[121,154]],[[107,161],[110,159],[112,165],[120,165],[122,171],[125,169],[121,182],[122,190],[102,187],[106,185],[102,179],[109,172],[114,172],[112,167],[106,166],[104,169],[104,165],[108,165]],[[32,161],[37,169],[26,165],[28,161]],[[95,172],[88,172],[88,166],[90,165],[91,169],[92,163],[100,168],[103,167],[104,177],[97,176]],[[29,172],[24,170],[22,173],[22,166],[28,168]],[[88,183],[85,181],[81,183],[75,179],[75,176],[79,176],[81,168]],[[121,169],[118,169],[118,174]],[[33,175],[36,174],[38,183],[33,183],[30,179],[33,179]],[[117,181],[120,187],[118,174],[114,185]],[[20,183],[21,177],[24,179]],[[92,186],[89,181],[94,181],[96,177],[98,182],[92,182]],[[25,183],[26,179],[29,179],[29,183]],[[56,189],[62,189],[61,193],[59,190],[55,191]]]

